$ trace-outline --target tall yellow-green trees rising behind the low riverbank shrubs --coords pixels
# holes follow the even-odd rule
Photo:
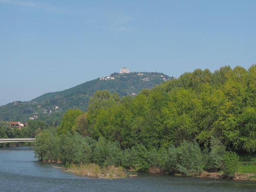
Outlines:
[[[90,100],[88,129],[92,137],[119,141],[122,148],[178,146],[193,139],[209,146],[214,136],[230,150],[255,152],[255,87],[252,65],[248,71],[196,69],[121,102],[98,91]]]

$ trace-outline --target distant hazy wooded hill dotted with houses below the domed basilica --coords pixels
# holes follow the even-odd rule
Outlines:
[[[49,124],[58,125],[63,113],[70,108],[86,111],[88,102],[97,90],[117,92],[122,98],[126,95],[136,95],[143,88],[152,88],[164,80],[172,79],[162,73],[111,74],[110,78],[97,78],[61,92],[43,94],[31,101],[15,101],[0,106],[0,121],[27,122],[29,117]],[[108,79],[108,80],[107,80]]]

